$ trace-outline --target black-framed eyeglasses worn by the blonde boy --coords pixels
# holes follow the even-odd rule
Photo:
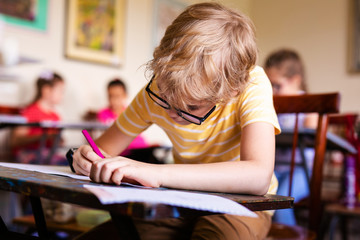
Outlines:
[[[154,79],[154,76],[151,78],[149,84],[146,86],[146,91],[149,94],[149,97],[160,107],[165,108],[165,109],[171,109],[171,106],[168,102],[166,102],[164,99],[162,99],[161,97],[156,95],[153,91],[151,91],[150,86],[151,86],[153,79]],[[198,116],[192,115],[188,112],[182,111],[177,108],[174,108],[174,109],[176,110],[176,113],[180,117],[185,119],[186,121],[194,123],[196,125],[201,125],[201,123],[210,116],[210,114],[215,110],[215,108],[216,108],[216,106],[211,108],[210,111],[204,117],[198,117]]]

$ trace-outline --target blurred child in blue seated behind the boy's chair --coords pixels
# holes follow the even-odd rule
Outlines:
[[[302,60],[297,52],[289,49],[280,49],[271,53],[265,61],[265,72],[273,86],[275,95],[298,95],[306,92],[305,70]],[[279,114],[281,129],[294,129],[295,114]],[[299,128],[315,128],[317,123],[316,114],[299,115]],[[308,173],[312,168],[314,158],[313,149],[305,149]],[[279,162],[290,163],[291,149],[276,149],[275,174],[279,181],[278,194],[289,194],[289,165],[277,164]],[[300,161],[301,156],[297,151],[296,160]],[[293,186],[291,196],[295,202],[303,199],[309,194],[309,185],[305,170],[296,166],[293,174]],[[289,225],[295,225],[296,219],[293,209],[277,210],[274,214],[274,221]]]

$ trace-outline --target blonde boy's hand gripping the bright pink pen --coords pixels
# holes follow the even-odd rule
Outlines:
[[[89,145],[82,145],[73,155],[73,167],[77,174],[90,176],[93,162],[99,161],[99,157]]]

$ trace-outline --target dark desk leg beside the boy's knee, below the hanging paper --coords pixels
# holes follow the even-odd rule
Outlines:
[[[119,229],[121,239],[140,240],[135,224],[130,216],[111,213],[111,219]]]

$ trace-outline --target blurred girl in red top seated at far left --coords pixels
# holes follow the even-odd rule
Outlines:
[[[36,82],[35,99],[23,109],[22,116],[28,122],[60,121],[56,106],[63,99],[64,88],[65,83],[61,75],[52,71],[43,71]],[[44,139],[45,137],[46,139]],[[25,126],[15,128],[10,138],[10,144],[16,161],[37,164],[67,164],[63,156],[56,154],[48,159],[52,145],[58,144],[54,142],[56,137],[59,137],[56,129]],[[45,145],[42,148],[40,148],[41,143]]]

